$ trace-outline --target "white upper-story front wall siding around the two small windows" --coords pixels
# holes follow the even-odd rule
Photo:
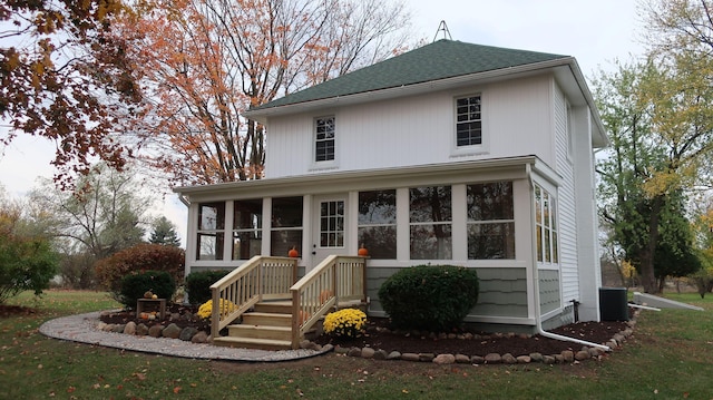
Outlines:
[[[551,76],[270,118],[265,177],[535,155],[554,164]],[[457,148],[455,98],[482,96],[482,145]],[[336,163],[314,163],[314,120],[334,115]],[[468,152],[469,147],[478,148]]]

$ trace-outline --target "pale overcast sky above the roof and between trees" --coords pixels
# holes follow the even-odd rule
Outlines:
[[[573,56],[586,77],[593,77],[599,68],[611,70],[614,59],[641,55],[642,23],[636,2],[406,0],[417,36],[429,42],[443,20],[453,40]],[[9,195],[22,196],[36,186],[38,176],[52,176],[52,155],[50,142],[20,134],[0,156],[0,184]],[[154,213],[166,215],[178,226],[182,238],[185,236],[185,206],[175,196],[158,204]]]

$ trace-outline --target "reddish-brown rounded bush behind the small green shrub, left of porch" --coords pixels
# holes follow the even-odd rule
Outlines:
[[[134,272],[165,271],[177,285],[184,280],[185,252],[175,246],[143,243],[97,262],[99,283],[120,301],[121,280]]]

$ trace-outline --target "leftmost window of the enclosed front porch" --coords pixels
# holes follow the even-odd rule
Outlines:
[[[223,260],[225,241],[225,203],[198,205],[197,260]]]

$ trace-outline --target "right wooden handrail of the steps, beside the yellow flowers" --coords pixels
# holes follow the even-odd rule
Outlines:
[[[330,255],[292,287],[292,348],[329,310],[367,301],[367,257]]]

